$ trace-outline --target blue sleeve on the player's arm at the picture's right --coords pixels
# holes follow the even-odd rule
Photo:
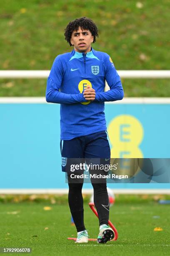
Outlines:
[[[109,55],[106,56],[104,67],[105,79],[110,87],[110,90],[108,90],[107,92],[96,92],[95,101],[104,102],[122,100],[124,92],[122,88],[122,83],[120,81],[120,76],[118,75],[112,59]]]

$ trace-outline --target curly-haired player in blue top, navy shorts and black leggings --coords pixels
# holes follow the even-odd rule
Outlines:
[[[65,40],[71,52],[58,55],[47,79],[47,102],[60,104],[60,149],[62,171],[67,172],[68,202],[77,229],[75,243],[87,243],[82,198],[83,179],[72,181],[66,168],[69,159],[110,159],[105,102],[122,100],[123,88],[111,57],[92,48],[98,37],[95,23],[86,17],[68,23]],[[105,92],[105,81],[110,90]],[[89,170],[90,172],[90,170]],[[92,182],[94,204],[99,217],[98,243],[114,238],[108,226],[107,184]]]

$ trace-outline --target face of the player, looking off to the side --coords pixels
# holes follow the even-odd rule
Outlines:
[[[87,29],[82,30],[80,27],[78,31],[73,31],[70,39],[71,44],[74,46],[75,51],[87,53],[91,51],[91,43],[94,36]]]

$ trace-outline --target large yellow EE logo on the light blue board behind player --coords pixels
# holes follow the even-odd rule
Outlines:
[[[140,149],[144,136],[143,125],[132,115],[118,115],[110,121],[107,131],[112,146],[112,161],[118,164],[114,173],[134,177],[143,163]]]

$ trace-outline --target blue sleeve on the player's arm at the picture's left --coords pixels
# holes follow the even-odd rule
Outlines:
[[[63,69],[60,60],[60,56],[57,56],[50,71],[50,75],[47,79],[46,89],[46,101],[52,103],[64,103],[73,104],[86,102],[82,93],[79,94],[67,94],[60,92],[60,86],[62,84]]]

